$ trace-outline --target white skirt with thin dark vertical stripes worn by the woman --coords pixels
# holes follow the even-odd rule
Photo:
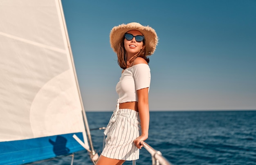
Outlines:
[[[134,140],[140,136],[139,112],[117,109],[113,112],[104,134],[106,143],[101,154],[108,158],[132,161],[139,159]]]

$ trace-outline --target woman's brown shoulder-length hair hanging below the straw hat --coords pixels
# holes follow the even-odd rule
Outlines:
[[[117,49],[117,63],[122,69],[127,68],[127,59],[126,59],[126,50],[124,48],[124,38],[122,38],[122,41],[119,43],[118,49]],[[146,56],[146,45],[145,45],[145,39],[143,40],[143,48],[139,53],[137,53],[135,56],[132,57],[130,64],[134,62],[134,60],[137,57],[141,57],[146,60],[147,63],[149,63],[149,58]]]

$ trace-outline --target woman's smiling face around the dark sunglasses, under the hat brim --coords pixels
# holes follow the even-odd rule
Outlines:
[[[132,34],[133,36],[142,35],[142,33],[137,30],[131,30],[126,33]],[[124,48],[126,50],[126,53],[135,55],[143,48],[143,41],[137,42],[135,40],[135,37],[133,37],[132,40],[130,40],[130,41],[126,40],[126,38],[125,38],[124,39]]]

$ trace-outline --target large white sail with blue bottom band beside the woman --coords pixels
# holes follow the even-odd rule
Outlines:
[[[89,149],[61,0],[0,0],[0,164]]]

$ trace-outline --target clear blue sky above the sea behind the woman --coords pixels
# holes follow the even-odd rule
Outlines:
[[[150,110],[256,110],[256,0],[62,0],[86,111],[112,111],[112,27],[155,29]]]

